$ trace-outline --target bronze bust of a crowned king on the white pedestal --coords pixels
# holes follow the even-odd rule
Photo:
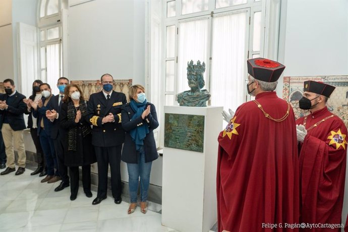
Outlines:
[[[193,61],[187,63],[187,79],[191,90],[184,91],[178,94],[177,101],[180,106],[207,106],[207,101],[210,99],[210,93],[206,89],[202,89],[205,85],[203,73],[205,64],[197,61],[194,65]]]

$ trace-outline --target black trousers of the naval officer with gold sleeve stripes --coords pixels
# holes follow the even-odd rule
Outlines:
[[[110,164],[111,192],[115,199],[121,198],[121,150],[122,145],[113,147],[94,146],[98,162],[98,198],[106,197],[107,171]]]

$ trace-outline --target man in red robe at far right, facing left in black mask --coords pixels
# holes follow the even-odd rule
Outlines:
[[[310,114],[296,121],[300,150],[300,222],[341,224],[347,129],[328,111],[326,101],[335,87],[304,82],[300,108]],[[341,228],[303,228],[301,231],[340,231]]]

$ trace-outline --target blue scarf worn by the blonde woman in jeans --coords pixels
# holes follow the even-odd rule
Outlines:
[[[144,112],[145,110],[145,106],[146,106],[147,101],[145,100],[143,103],[140,102],[136,102],[135,100],[131,100],[131,102],[129,103],[133,109],[133,111],[135,112],[132,120],[135,120],[136,118],[141,117],[141,114]],[[132,140],[135,142],[137,151],[139,151],[141,149],[141,147],[144,145],[143,141],[146,137],[147,134],[149,134],[149,127],[147,126],[147,124],[143,124],[139,127],[136,127],[134,129],[132,129],[130,131],[130,135],[132,137]]]

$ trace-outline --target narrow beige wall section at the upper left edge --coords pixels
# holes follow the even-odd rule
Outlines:
[[[0,81],[12,78],[12,0],[0,1]]]

